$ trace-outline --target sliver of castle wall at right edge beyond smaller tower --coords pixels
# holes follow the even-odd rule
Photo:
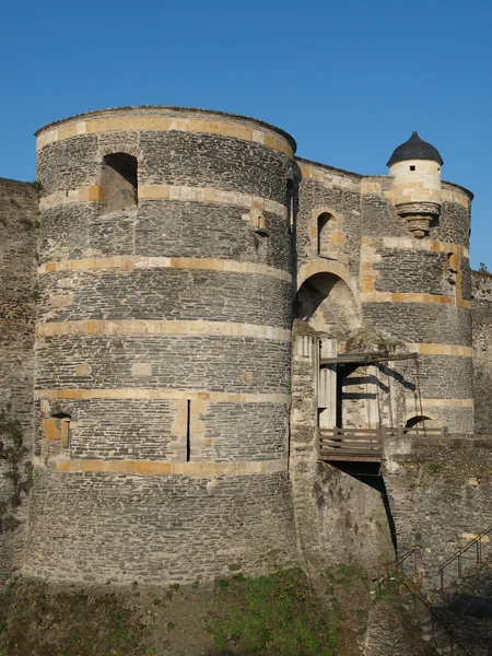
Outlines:
[[[473,399],[476,431],[492,434],[492,276],[472,271]]]

